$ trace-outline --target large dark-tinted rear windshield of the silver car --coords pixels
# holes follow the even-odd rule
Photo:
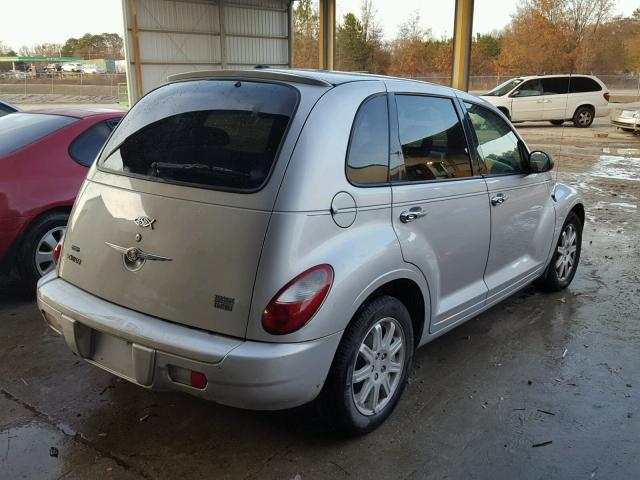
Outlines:
[[[297,91],[280,84],[169,84],[131,109],[98,165],[148,180],[255,191],[269,176],[297,101]]]

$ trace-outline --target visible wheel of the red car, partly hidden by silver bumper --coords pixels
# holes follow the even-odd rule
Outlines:
[[[64,212],[45,213],[29,227],[18,247],[18,274],[26,289],[35,292],[40,278],[55,268],[53,248],[60,241],[69,215]],[[50,257],[50,261],[49,261]]]

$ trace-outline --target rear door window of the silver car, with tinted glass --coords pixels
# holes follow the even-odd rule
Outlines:
[[[446,180],[473,175],[467,142],[448,98],[396,95],[404,164],[393,168],[396,182]]]

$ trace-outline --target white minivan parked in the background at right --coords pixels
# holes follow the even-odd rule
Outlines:
[[[571,120],[587,128],[595,117],[609,115],[609,92],[590,75],[517,77],[501,83],[481,98],[492,103],[512,122]]]

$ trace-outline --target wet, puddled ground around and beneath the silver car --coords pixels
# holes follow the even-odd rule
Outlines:
[[[122,382],[0,280],[0,479],[640,478],[640,139],[519,126],[587,204],[571,287],[529,287],[422,348],[393,416],[343,439]]]

